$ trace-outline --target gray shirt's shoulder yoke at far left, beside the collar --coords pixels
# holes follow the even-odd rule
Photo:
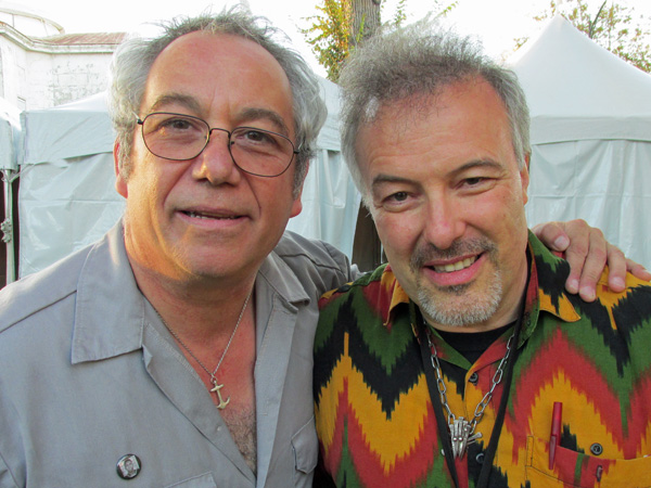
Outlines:
[[[77,291],[92,244],[0,291],[0,333]]]

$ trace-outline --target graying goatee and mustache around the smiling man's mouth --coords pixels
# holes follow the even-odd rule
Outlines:
[[[468,254],[486,253],[494,265],[493,277],[484,287],[475,282],[451,286],[423,284],[418,270],[433,259],[450,259]],[[497,264],[497,247],[486,237],[455,242],[447,249],[432,245],[417,249],[411,258],[411,269],[417,281],[417,296],[421,311],[435,323],[448,326],[469,326],[490,319],[503,295],[502,277]],[[477,290],[473,290],[477,288]]]

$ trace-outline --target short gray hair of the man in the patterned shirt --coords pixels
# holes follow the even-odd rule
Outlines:
[[[436,94],[443,87],[469,78],[486,79],[503,101],[511,126],[513,152],[522,168],[529,147],[529,115],[515,74],[482,53],[481,44],[443,29],[430,18],[380,34],[347,60],[339,82],[343,91],[342,145],[355,184],[368,204],[356,140],[386,104]]]

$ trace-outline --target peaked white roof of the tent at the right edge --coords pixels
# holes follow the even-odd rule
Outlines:
[[[532,143],[651,141],[651,76],[561,16],[512,60],[532,115]]]

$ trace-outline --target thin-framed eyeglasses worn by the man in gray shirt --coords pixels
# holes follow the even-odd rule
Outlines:
[[[164,159],[194,159],[206,149],[214,130],[228,134],[228,151],[233,163],[251,175],[280,176],[298,154],[284,136],[255,127],[237,127],[228,131],[210,128],[199,117],[168,112],[154,112],[136,120],[142,126],[146,149]]]

